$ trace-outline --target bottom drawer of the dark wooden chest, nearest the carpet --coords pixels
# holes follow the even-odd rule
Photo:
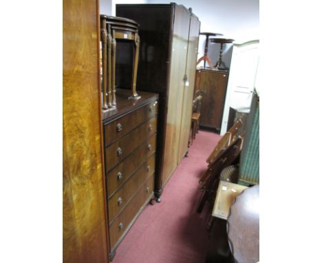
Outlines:
[[[138,215],[144,203],[151,198],[154,186],[154,176],[150,176],[147,182],[139,189],[132,200],[127,204],[127,207],[116,217],[116,220],[109,227],[109,241],[111,244],[111,250],[120,240],[121,236],[125,234],[128,227]]]

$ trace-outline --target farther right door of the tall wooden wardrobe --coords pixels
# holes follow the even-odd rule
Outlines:
[[[200,21],[195,15],[191,15],[188,52],[186,55],[186,79],[184,84],[184,97],[182,102],[182,120],[180,130],[180,143],[178,152],[178,164],[188,151],[189,134],[191,129],[191,114],[193,108],[193,90],[195,85],[195,67],[197,64],[197,52],[199,43]]]

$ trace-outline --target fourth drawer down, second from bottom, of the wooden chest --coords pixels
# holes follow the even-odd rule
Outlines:
[[[109,223],[113,222],[116,215],[125,209],[129,200],[136,191],[143,185],[149,176],[154,173],[154,161],[155,156],[151,156],[149,160],[144,162],[136,171],[133,176],[125,185],[123,185],[118,191],[109,199]]]

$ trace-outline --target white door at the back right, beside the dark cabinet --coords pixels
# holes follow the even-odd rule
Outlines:
[[[230,64],[224,116],[222,118],[223,135],[227,129],[229,108],[250,107],[255,87],[255,79],[259,61],[259,41],[248,41],[233,45]]]

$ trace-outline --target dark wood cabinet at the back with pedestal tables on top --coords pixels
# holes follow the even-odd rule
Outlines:
[[[202,69],[196,72],[197,89],[202,91],[200,128],[220,132],[228,83],[228,71]]]

